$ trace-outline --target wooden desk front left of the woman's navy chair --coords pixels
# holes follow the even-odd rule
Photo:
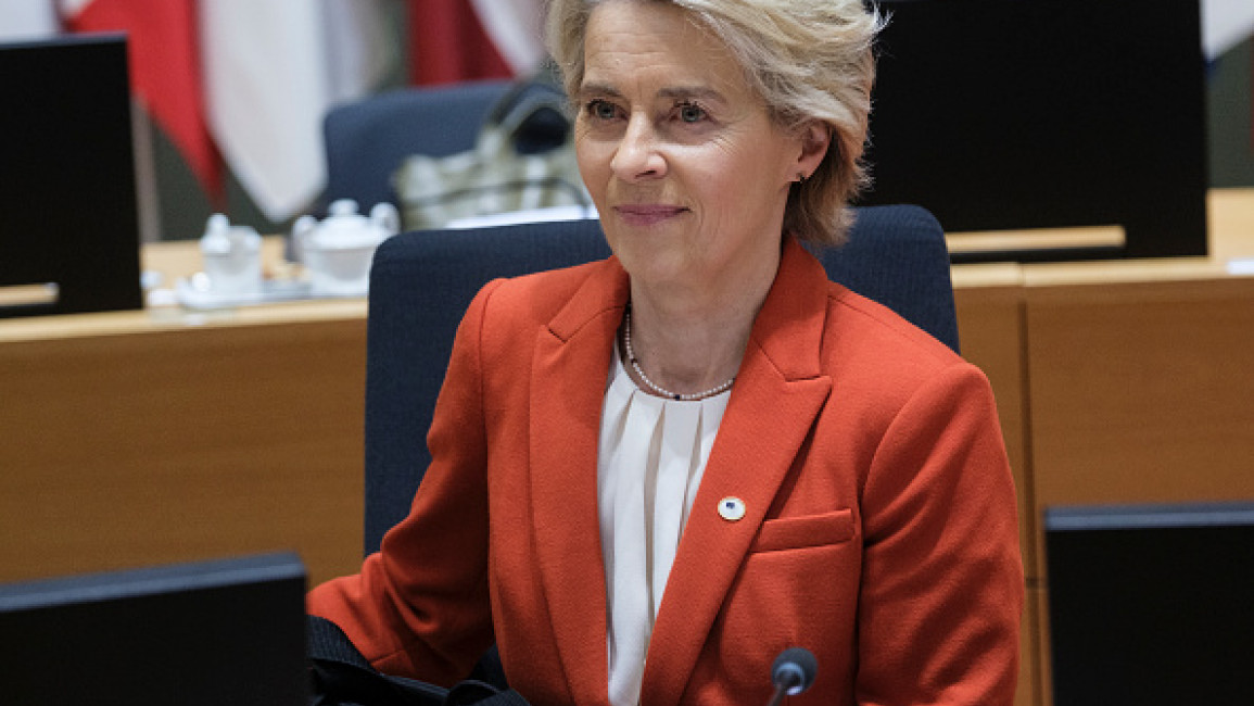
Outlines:
[[[0,581],[361,553],[365,321],[0,345]]]

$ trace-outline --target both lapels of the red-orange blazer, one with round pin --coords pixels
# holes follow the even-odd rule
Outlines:
[[[608,682],[597,439],[609,346],[628,292],[616,258],[596,265],[539,331],[532,361],[535,553],[574,693],[606,693]],[[828,398],[830,380],[819,367],[826,298],[823,266],[786,238],[671,569],[650,642],[645,703],[680,701],[745,553]],[[739,522],[717,513],[729,497],[745,503]]]

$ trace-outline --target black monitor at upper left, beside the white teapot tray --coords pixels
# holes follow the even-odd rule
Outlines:
[[[0,45],[0,317],[143,307],[125,39]]]

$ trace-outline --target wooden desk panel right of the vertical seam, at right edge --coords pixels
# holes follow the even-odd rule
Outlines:
[[[1036,518],[1254,498],[1254,278],[1028,287],[1027,342]]]

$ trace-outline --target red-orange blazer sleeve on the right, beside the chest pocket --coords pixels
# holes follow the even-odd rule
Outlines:
[[[957,362],[902,406],[863,500],[858,703],[1011,705],[1023,567],[992,390]]]

